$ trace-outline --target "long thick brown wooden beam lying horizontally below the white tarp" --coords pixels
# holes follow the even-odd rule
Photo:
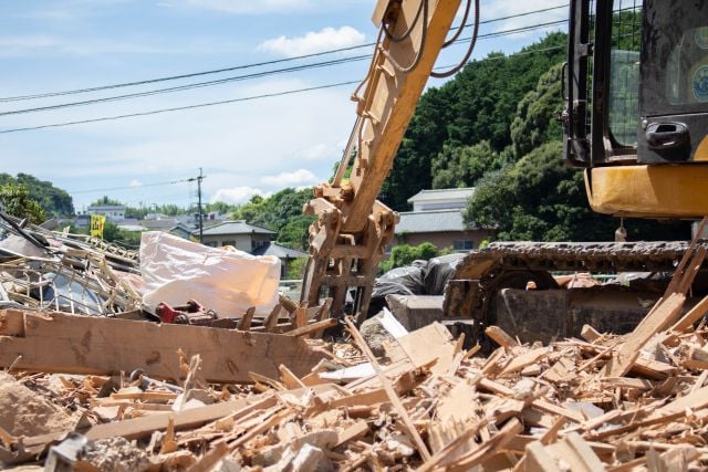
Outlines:
[[[19,310],[0,316],[13,319],[8,326],[23,324],[21,336],[0,326],[0,367],[22,356],[14,368],[29,371],[116,375],[139,368],[169,379],[180,373],[181,349],[201,356],[207,381],[249,382],[249,371],[278,377],[280,364],[303,376],[326,357],[293,336]]]

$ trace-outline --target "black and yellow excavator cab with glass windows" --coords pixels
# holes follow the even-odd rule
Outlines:
[[[573,0],[565,159],[595,211],[708,214],[708,2]]]

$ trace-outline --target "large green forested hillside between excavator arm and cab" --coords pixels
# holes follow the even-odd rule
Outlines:
[[[582,171],[562,160],[564,33],[520,52],[490,54],[429,88],[398,150],[381,198],[404,211],[421,189],[477,187],[468,224],[501,240],[612,240],[618,219],[594,213]],[[625,221],[633,240],[687,239],[686,222]]]

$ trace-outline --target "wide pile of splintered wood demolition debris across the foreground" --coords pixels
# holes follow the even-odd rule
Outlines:
[[[194,326],[10,298],[0,461],[52,471],[704,468],[708,297],[686,306],[686,293],[705,256],[690,247],[628,335],[586,326],[583,339],[521,345],[490,326],[499,347],[488,357],[440,324],[407,333],[388,314],[378,358],[348,321],[347,343],[324,342],[336,323],[329,301],[281,297],[264,316]],[[21,293],[11,283],[8,295]]]

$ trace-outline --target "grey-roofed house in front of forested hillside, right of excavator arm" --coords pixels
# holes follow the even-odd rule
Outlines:
[[[464,252],[479,248],[494,235],[490,228],[467,227],[462,210],[475,188],[421,190],[408,199],[413,211],[398,213],[395,244],[418,245],[430,242],[438,249]]]

